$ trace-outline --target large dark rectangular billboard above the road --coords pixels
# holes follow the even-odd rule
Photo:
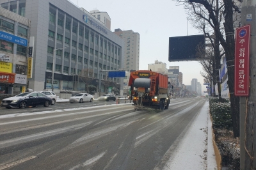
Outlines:
[[[204,35],[169,37],[169,61],[200,60],[196,53],[205,49]]]

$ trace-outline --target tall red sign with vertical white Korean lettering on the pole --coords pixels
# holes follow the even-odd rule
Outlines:
[[[236,29],[235,95],[249,95],[250,25]]]

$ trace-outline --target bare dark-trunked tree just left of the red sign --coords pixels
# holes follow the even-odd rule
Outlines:
[[[234,131],[234,137],[238,137],[239,136],[239,97],[236,97],[234,95],[235,42],[234,42],[233,15],[234,13],[239,12],[238,10],[239,8],[237,8],[237,6],[233,3],[232,0],[223,0],[223,1],[189,0],[189,1],[184,1],[183,3],[191,6],[191,9],[193,10],[193,15],[200,18],[200,22],[202,22],[202,25],[205,26],[206,28],[205,30],[207,30],[210,27],[211,29],[214,30],[215,44],[216,44],[214,45],[214,47],[218,47],[220,42],[221,46],[224,49],[225,57],[227,59],[227,67],[228,67],[228,88],[230,90],[230,103],[231,103],[231,112],[232,112],[233,131]],[[223,23],[221,22],[221,20],[223,20]],[[214,59],[217,62],[218,62],[218,58],[216,57],[218,56],[220,56],[220,54],[214,55]],[[220,68],[220,66],[216,65],[216,68]]]

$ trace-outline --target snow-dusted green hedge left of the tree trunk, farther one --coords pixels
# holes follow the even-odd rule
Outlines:
[[[228,100],[219,102],[218,98],[209,98],[210,113],[212,116],[212,127],[232,128],[231,105]]]

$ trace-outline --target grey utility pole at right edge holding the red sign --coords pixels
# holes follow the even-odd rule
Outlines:
[[[240,169],[256,169],[256,1],[244,0],[241,26],[250,24],[250,84],[249,96],[240,97]]]

